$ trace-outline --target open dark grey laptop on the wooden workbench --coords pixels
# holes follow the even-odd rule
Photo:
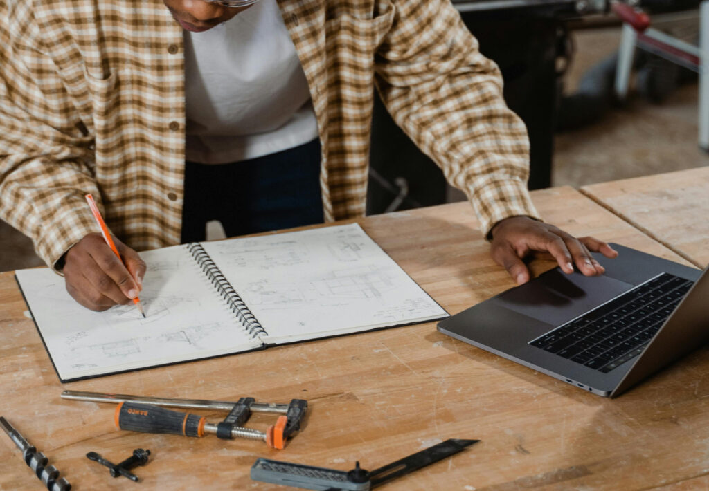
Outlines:
[[[552,269],[437,324],[443,334],[615,397],[709,339],[709,266],[612,244],[602,276]]]

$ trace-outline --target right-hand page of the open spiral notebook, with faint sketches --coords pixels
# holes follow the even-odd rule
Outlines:
[[[357,224],[201,244],[268,344],[447,316]]]

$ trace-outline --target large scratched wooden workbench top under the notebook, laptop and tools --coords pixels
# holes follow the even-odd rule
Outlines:
[[[683,261],[571,188],[532,193],[549,222]],[[454,314],[514,285],[493,263],[469,205],[361,220],[364,230]],[[552,266],[536,260],[537,272]],[[446,337],[435,323],[62,385],[12,273],[0,273],[0,415],[83,490],[285,490],[253,482],[257,457],[373,469],[448,438],[481,439],[383,490],[679,490],[709,485],[709,350],[700,349],[615,400],[589,394]],[[282,451],[259,441],[120,431],[113,405],[60,399],[62,390],[157,397],[310,403]],[[208,421],[223,414],[213,413]],[[249,426],[273,421],[255,415]],[[113,479],[89,451],[120,461],[148,448],[141,482]],[[0,489],[41,490],[0,433]]]

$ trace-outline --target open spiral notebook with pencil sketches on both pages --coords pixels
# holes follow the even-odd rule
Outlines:
[[[16,271],[62,382],[448,315],[357,224],[140,256],[145,319],[85,309],[50,269]]]

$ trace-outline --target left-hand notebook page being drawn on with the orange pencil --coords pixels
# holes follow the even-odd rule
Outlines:
[[[88,310],[50,269],[16,276],[62,380],[245,351],[248,339],[185,246],[140,253],[147,273],[137,307]]]

